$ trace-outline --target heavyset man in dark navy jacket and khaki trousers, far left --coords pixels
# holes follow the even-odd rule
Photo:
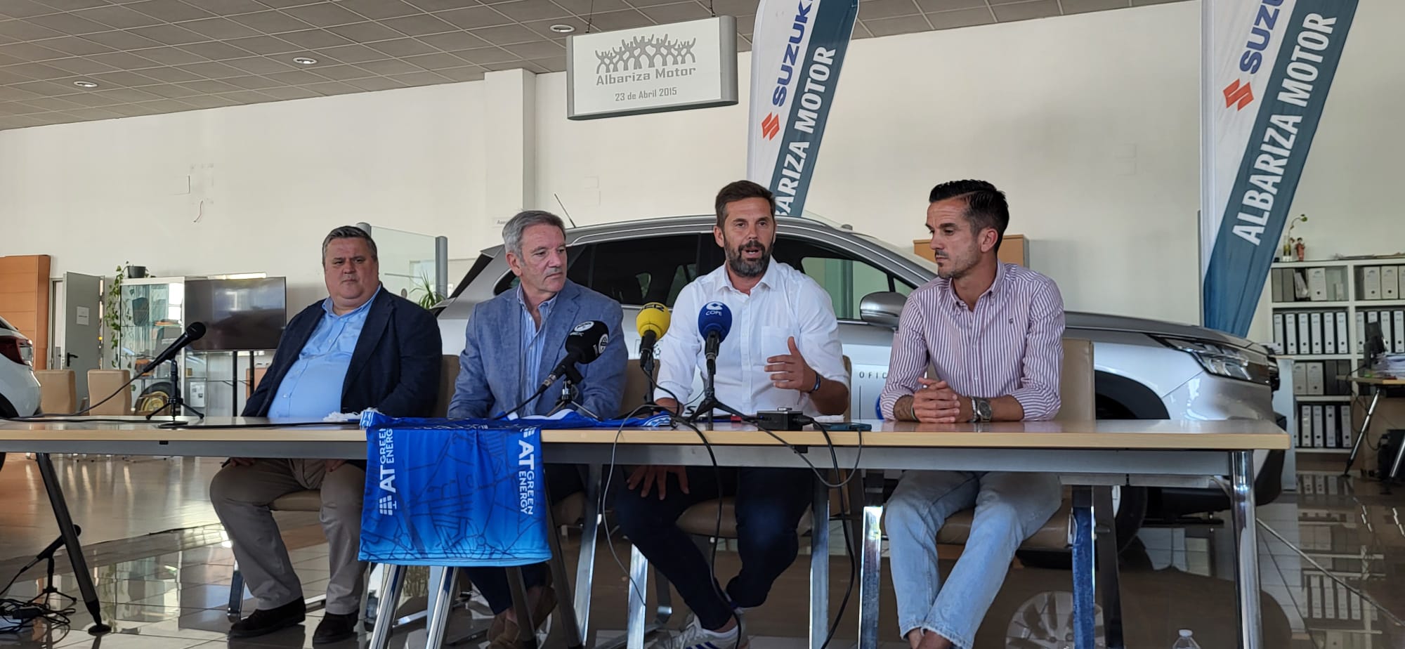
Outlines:
[[[375,242],[360,228],[337,228],[322,242],[329,296],[288,322],[273,364],[243,416],[318,421],[375,407],[396,417],[429,417],[440,381],[434,316],[381,287]],[[233,542],[259,610],[235,622],[230,638],[251,638],[303,621],[302,584],[268,510],[280,496],[319,489],[330,549],[326,614],[315,643],[355,635],[365,563],[357,560],[365,462],[230,458],[209,497]]]

